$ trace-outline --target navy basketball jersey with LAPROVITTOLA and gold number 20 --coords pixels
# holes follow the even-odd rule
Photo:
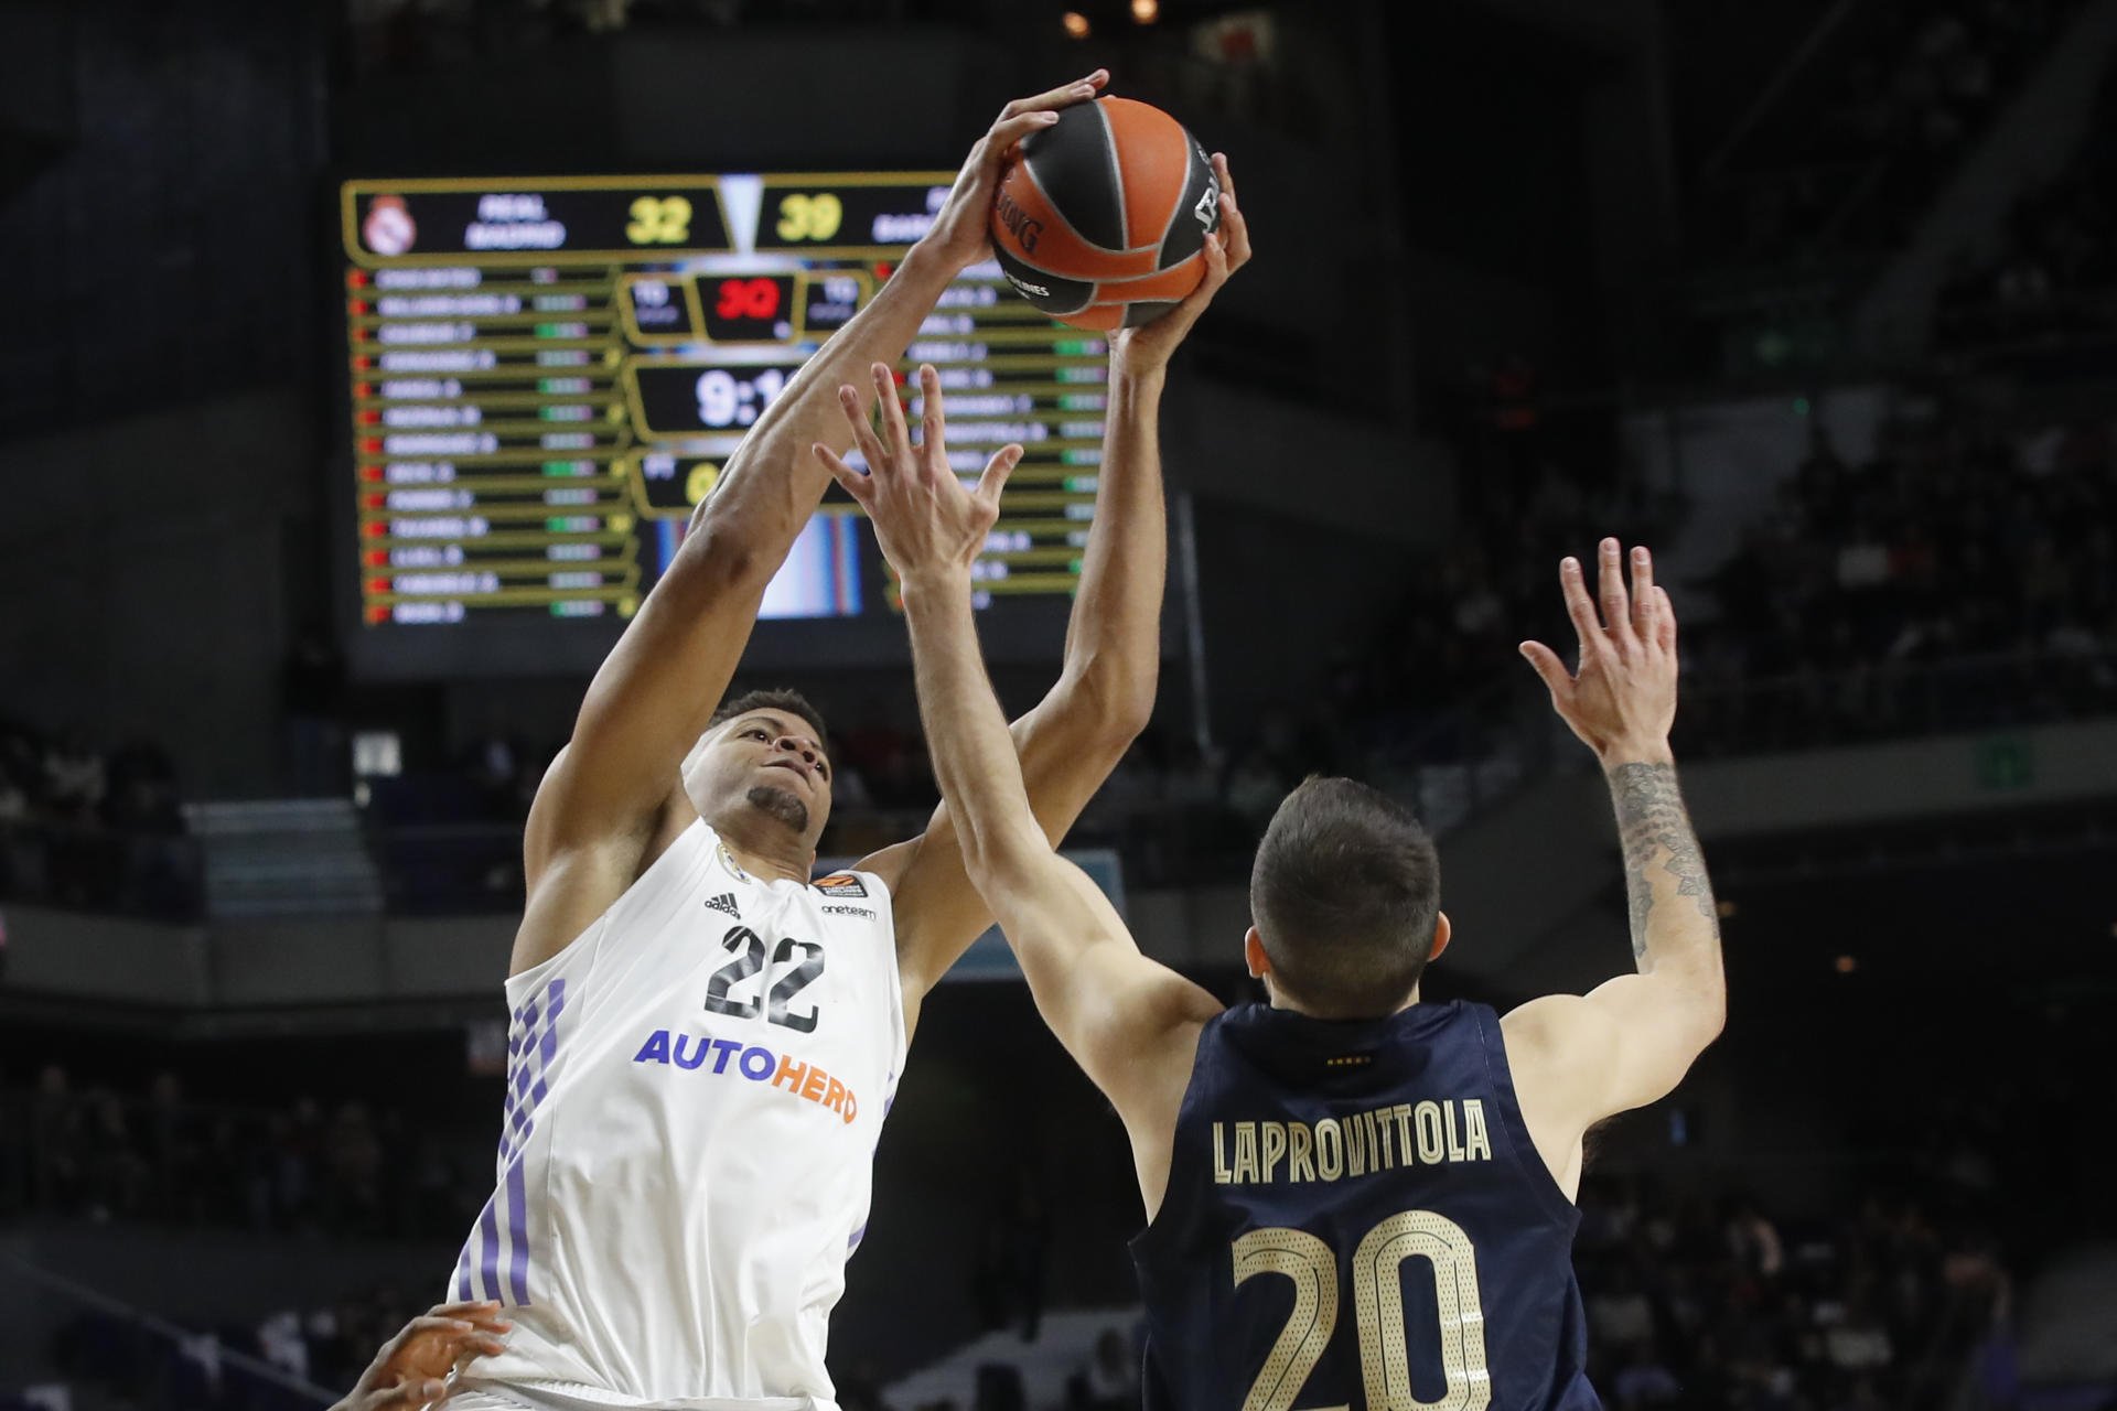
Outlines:
[[[1133,1242],[1147,1407],[1594,1411],[1577,1225],[1484,1005],[1230,1009]]]

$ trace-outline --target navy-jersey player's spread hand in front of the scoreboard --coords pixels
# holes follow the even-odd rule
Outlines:
[[[963,482],[948,468],[940,374],[934,372],[934,366],[919,364],[925,421],[917,446],[910,427],[904,425],[904,404],[898,400],[895,377],[881,362],[874,364],[872,372],[874,400],[883,421],[881,436],[860,415],[857,393],[851,387],[838,387],[838,404],[845,408],[845,419],[853,423],[853,438],[860,444],[860,455],[868,461],[868,474],[860,474],[824,444],[815,446],[815,455],[874,520],[874,537],[900,580],[936,571],[967,578],[970,563],[984,548],[984,535],[999,518],[999,487],[1008,482],[1008,472],[1023,459],[1023,448],[1008,444],[995,451],[978,478],[978,489],[963,489]]]

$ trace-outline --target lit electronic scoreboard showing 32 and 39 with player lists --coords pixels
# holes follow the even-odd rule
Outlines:
[[[375,624],[629,618],[743,434],[889,279],[953,173],[347,182],[345,324],[360,611]],[[948,393],[972,478],[1023,442],[978,599],[1069,594],[1094,510],[1101,336],[997,264],[963,273],[900,366]],[[857,463],[857,455],[853,457]],[[766,618],[893,607],[836,487]]]

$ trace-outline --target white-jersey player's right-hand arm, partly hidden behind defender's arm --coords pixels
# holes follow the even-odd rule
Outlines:
[[[1160,319],[1111,336],[1109,423],[1094,525],[1067,620],[1065,664],[1050,694],[1012,726],[1029,804],[1052,842],[1073,827],[1154,713],[1169,561],[1162,387],[1171,355],[1251,254],[1249,226],[1234,201],[1224,154],[1213,154],[1213,176],[1219,182],[1219,231],[1207,239],[1207,273],[1198,290]],[[938,434],[938,419],[929,421]],[[925,833],[860,865],[891,880],[906,1020],[917,1022],[925,992],[993,922],[963,869],[951,804],[942,802]]]

